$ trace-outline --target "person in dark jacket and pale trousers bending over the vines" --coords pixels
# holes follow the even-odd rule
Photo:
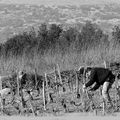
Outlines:
[[[93,67],[89,68],[89,70],[86,69],[86,76],[88,77],[89,81],[83,85],[83,89],[86,89],[95,83],[95,85],[90,89],[90,91],[95,91],[101,85],[103,85],[103,99],[112,105],[109,96],[109,89],[115,81],[115,75],[113,75],[112,71],[106,68]]]

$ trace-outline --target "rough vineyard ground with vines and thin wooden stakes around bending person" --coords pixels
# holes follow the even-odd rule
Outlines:
[[[61,71],[57,66],[45,76],[27,75],[23,90],[15,79],[9,80],[16,94],[10,94],[4,101],[1,114],[22,116],[64,115],[65,113],[93,113],[94,115],[109,115],[120,112],[119,67],[115,63],[110,69],[116,74],[116,81],[110,90],[114,107],[105,109],[101,96],[101,88],[95,92],[82,91],[84,76],[76,70]],[[8,82],[3,82],[3,88]],[[27,90],[31,90],[31,94]],[[23,97],[21,97],[21,94]]]

